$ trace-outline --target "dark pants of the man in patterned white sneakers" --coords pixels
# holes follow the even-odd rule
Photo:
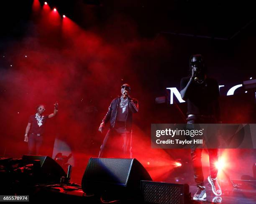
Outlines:
[[[216,123],[214,118],[204,118],[204,117],[188,117],[187,124],[196,124],[196,123]],[[218,168],[215,166],[215,163],[218,162],[218,149],[207,149],[209,154],[210,162],[210,177],[215,179],[218,174]],[[204,176],[202,172],[202,149],[192,148],[191,157],[192,164],[194,169],[194,177],[197,186],[204,186]]]

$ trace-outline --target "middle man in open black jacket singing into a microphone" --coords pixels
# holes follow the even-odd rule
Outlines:
[[[99,127],[102,133],[105,124],[110,122],[110,128],[100,147],[99,157],[106,157],[107,154],[113,157],[110,150],[116,149],[118,150],[117,157],[132,157],[132,117],[133,113],[138,112],[138,100],[131,98],[130,93],[130,85],[124,84],[121,86],[122,95],[110,103],[108,112]]]

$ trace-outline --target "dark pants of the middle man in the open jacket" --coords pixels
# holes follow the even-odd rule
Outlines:
[[[132,134],[127,131],[124,123],[117,122],[108,132],[100,147],[99,157],[132,158]]]

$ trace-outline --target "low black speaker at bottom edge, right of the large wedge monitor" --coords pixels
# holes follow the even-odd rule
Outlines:
[[[141,181],[143,203],[186,204],[191,200],[188,184]]]

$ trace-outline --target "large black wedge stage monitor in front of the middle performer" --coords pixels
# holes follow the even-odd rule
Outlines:
[[[140,193],[141,180],[152,181],[137,159],[90,158],[82,178],[84,192]]]

